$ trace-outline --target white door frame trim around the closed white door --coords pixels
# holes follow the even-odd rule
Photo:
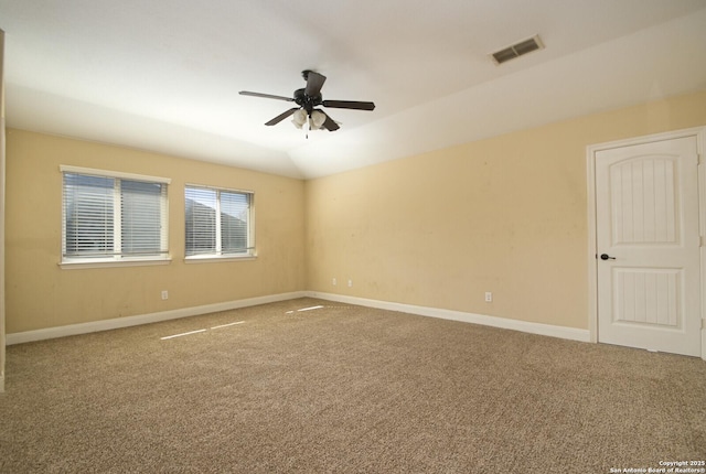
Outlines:
[[[702,359],[706,360],[706,165],[703,163],[706,150],[706,127],[695,127],[663,133],[646,134],[624,140],[589,144],[586,147],[587,170],[587,205],[588,205],[588,330],[590,342],[598,342],[598,260],[596,255],[596,153],[634,144],[645,144],[655,141],[677,138],[696,137],[696,152],[698,160],[698,216],[700,234],[700,316],[702,316]]]

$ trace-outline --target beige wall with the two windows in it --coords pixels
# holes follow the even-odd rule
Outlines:
[[[170,177],[171,263],[61,269],[61,164]],[[186,182],[255,192],[256,260],[184,262]],[[8,130],[7,331],[304,290],[303,198],[300,180]],[[167,301],[161,290],[169,291]]]

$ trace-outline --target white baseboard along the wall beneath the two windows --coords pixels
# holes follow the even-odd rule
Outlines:
[[[47,327],[44,330],[25,331],[7,334],[7,345],[22,344],[33,341],[51,340],[55,337],[74,336],[77,334],[96,333],[98,331],[117,330],[140,324],[158,323],[160,321],[196,316],[199,314],[216,313],[218,311],[236,310],[238,308],[256,306],[258,304],[275,303],[277,301],[293,300],[307,295],[304,291],[272,294],[268,297],[248,298],[245,300],[226,301],[223,303],[204,304],[202,306],[182,308],[179,310],[160,311],[158,313],[140,314],[136,316],[115,317],[111,320],[93,321],[89,323],[69,324],[66,326]]]

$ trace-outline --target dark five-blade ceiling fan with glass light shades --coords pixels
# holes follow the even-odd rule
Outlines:
[[[299,107],[292,107],[291,109],[278,115],[270,121],[266,122],[266,126],[274,126],[285,120],[289,116],[293,116],[292,122],[297,128],[302,128],[308,125],[312,130],[338,130],[339,123],[336,123],[331,117],[323,110],[314,107],[323,106],[339,109],[355,109],[355,110],[373,110],[375,104],[362,103],[355,100],[323,100],[321,96],[321,87],[327,80],[327,77],[315,73],[313,71],[303,71],[301,73],[307,87],[295,90],[293,97],[274,96],[271,94],[250,93],[248,90],[240,90],[242,96],[264,97],[266,99],[286,100],[288,103],[296,103]]]

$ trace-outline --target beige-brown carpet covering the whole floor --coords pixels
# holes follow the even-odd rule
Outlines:
[[[609,473],[706,459],[700,359],[311,299],[10,346],[6,388],[2,473]]]

